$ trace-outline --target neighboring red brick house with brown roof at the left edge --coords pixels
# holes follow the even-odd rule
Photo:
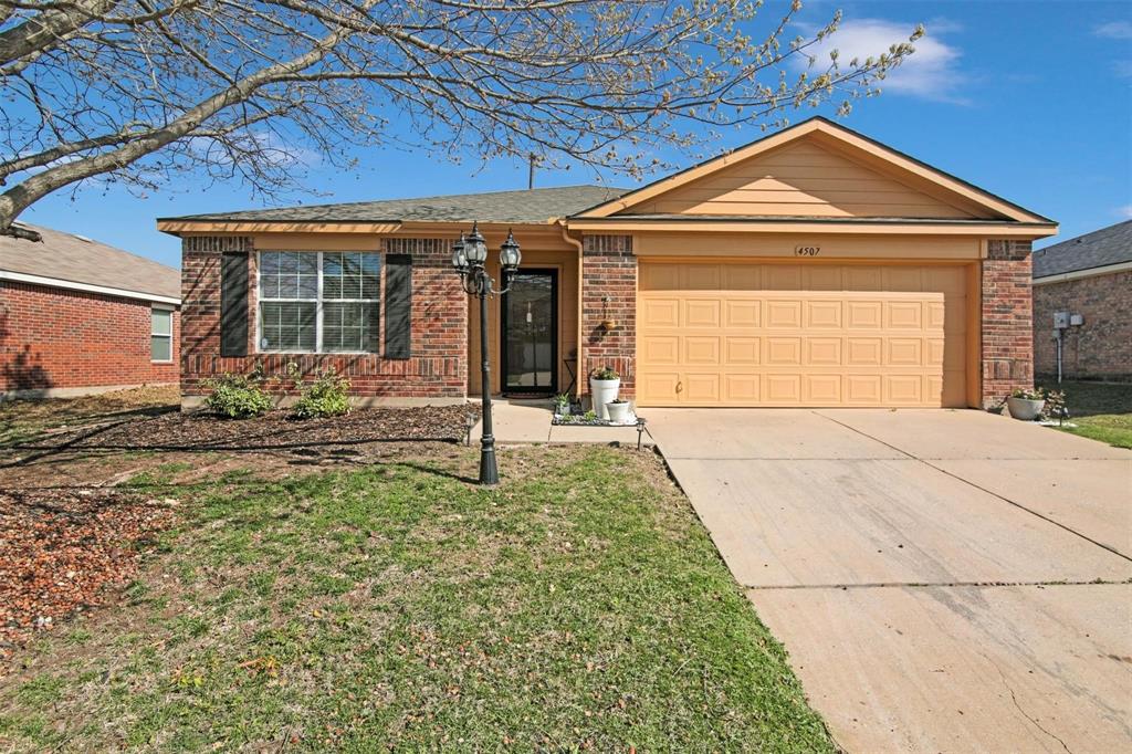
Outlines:
[[[36,225],[0,235],[0,400],[178,382],[177,269]]]

